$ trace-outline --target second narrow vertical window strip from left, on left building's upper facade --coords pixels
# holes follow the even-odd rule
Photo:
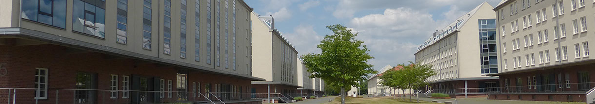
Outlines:
[[[143,4],[143,49],[151,50],[151,0],[144,0]]]

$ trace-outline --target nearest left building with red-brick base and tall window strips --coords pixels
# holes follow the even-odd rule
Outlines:
[[[261,103],[242,0],[11,0],[0,103]],[[231,94],[234,93],[234,94]]]

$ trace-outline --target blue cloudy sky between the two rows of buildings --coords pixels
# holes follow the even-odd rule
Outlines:
[[[321,53],[317,48],[327,25],[342,24],[358,32],[374,70],[415,61],[417,47],[439,28],[488,2],[501,0],[245,0],[253,12],[272,15],[275,28],[297,55]]]

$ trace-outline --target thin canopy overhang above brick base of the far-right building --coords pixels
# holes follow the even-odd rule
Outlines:
[[[533,67],[533,68],[530,68],[530,69],[505,71],[505,72],[502,72],[502,73],[486,74],[484,76],[502,76],[502,75],[506,75],[506,74],[515,74],[515,73],[524,73],[524,72],[529,72],[529,71],[540,71],[540,70],[558,69],[558,68],[562,68],[562,67],[577,66],[577,65],[583,65],[583,64],[593,64],[593,63],[595,63],[595,59],[583,60],[583,61],[573,61],[573,62],[568,62],[568,63],[550,65],[550,66]]]

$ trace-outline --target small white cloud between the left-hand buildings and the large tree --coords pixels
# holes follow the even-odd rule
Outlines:
[[[297,25],[292,33],[283,34],[293,47],[296,48],[298,56],[308,53],[320,53],[317,45],[322,40],[322,36],[314,31],[313,25]]]

